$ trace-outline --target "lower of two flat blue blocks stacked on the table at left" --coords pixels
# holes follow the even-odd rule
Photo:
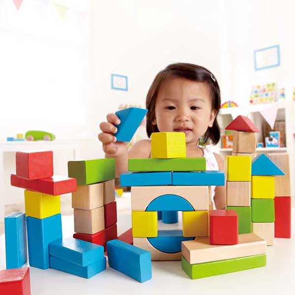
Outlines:
[[[88,266],[79,266],[77,264],[50,256],[50,268],[89,279],[93,275],[106,269],[106,258],[103,256],[100,260],[89,264]]]

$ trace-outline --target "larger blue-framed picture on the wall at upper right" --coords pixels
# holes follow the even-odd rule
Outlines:
[[[274,45],[254,51],[255,71],[280,65],[280,45]]]

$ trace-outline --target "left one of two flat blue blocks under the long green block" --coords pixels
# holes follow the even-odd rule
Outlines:
[[[139,172],[120,175],[121,186],[171,185],[172,172]]]

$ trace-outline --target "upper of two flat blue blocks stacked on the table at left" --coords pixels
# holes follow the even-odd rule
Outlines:
[[[73,237],[55,240],[49,244],[49,255],[80,266],[88,266],[102,260],[103,252],[103,246]]]

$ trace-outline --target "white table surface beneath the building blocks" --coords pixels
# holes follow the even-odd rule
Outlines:
[[[117,198],[118,234],[131,227],[130,194]],[[294,208],[292,217],[294,220]],[[174,225],[179,228],[181,225]],[[161,227],[169,228],[171,225]],[[63,237],[74,233],[73,216],[62,216]],[[229,274],[191,280],[181,269],[180,261],[152,262],[152,278],[139,283],[107,266],[90,279],[55,269],[30,267],[32,295],[82,294],[294,294],[295,239],[276,238],[267,247],[267,265]],[[5,238],[0,236],[0,269],[5,269]]]

